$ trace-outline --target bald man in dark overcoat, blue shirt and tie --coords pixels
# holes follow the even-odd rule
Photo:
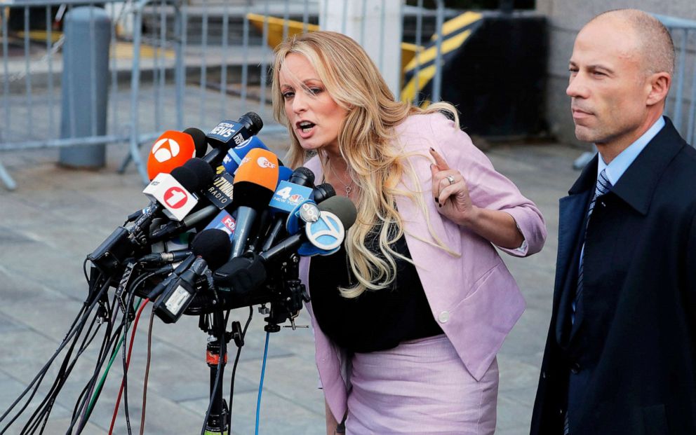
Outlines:
[[[696,151],[662,116],[673,69],[641,11],[575,39],[566,92],[599,153],[560,202],[533,435],[696,434]]]

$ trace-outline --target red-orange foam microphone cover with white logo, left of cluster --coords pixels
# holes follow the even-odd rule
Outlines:
[[[147,158],[147,177],[169,174],[186,160],[196,156],[196,141],[187,132],[167,130],[157,139]]]

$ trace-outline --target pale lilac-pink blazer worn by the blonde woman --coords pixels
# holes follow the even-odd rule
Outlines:
[[[417,153],[408,160],[415,168],[419,186],[408,177],[402,188],[420,191],[427,216],[406,197],[397,197],[396,206],[404,219],[406,244],[420,277],[433,317],[452,342],[464,366],[476,380],[481,379],[493,362],[507,333],[525,308],[518,286],[497,251],[487,240],[457,226],[439,214],[431,194],[431,171],[428,149],[438,151],[450,167],[457,168],[467,179],[471,200],[478,207],[497,209],[513,216],[525,238],[520,249],[502,249],[514,256],[528,256],[542,249],[547,231],[539,209],[525,198],[509,179],[495,172],[490,160],[472,144],[469,136],[448,120],[434,113],[409,116],[396,127],[394,146],[404,153]],[[322,178],[319,159],[306,165]],[[415,187],[415,188],[414,188]],[[427,221],[436,235],[461,256],[452,256],[417,238],[429,237]],[[310,258],[302,258],[300,279],[309,289]],[[347,409],[347,392],[342,373],[342,352],[316,324],[312,303],[307,304],[314,327],[316,366],[324,395],[337,421]]]

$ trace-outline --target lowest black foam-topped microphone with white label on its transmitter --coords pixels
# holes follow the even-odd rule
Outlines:
[[[220,265],[227,261],[229,249],[229,239],[225,231],[202,231],[193,242],[194,261],[180,274],[170,275],[162,296],[157,298],[153,308],[157,317],[165,323],[176,322],[196,295],[196,279],[203,276],[208,269],[220,268]],[[153,294],[154,290],[150,295]]]

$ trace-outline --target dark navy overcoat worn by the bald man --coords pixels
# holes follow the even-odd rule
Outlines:
[[[696,150],[666,121],[598,198],[587,233],[597,157],[560,201],[533,435],[562,434],[566,409],[571,435],[696,434]]]

